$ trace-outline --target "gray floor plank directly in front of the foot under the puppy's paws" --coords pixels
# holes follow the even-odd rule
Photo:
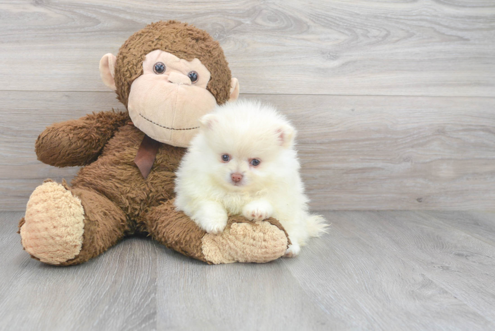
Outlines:
[[[345,326],[328,318],[280,260],[212,267],[163,249],[158,274],[158,329],[283,331]]]

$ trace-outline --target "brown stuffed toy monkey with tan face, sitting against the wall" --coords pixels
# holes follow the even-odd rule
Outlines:
[[[267,262],[288,244],[274,219],[231,216],[218,235],[175,210],[174,171],[197,120],[237,99],[239,85],[220,45],[205,31],[177,21],[150,24],[100,62],[104,83],[127,112],[101,112],[47,127],[38,159],[84,166],[68,185],[46,180],[19,222],[24,249],[41,262],[85,262],[127,235],[208,263]]]

